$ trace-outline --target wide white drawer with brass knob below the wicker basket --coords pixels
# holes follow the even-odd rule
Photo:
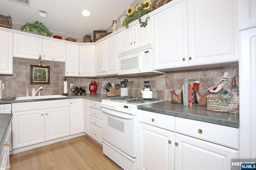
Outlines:
[[[238,149],[238,128],[176,117],[175,132]]]

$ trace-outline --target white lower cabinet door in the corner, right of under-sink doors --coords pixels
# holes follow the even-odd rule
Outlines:
[[[70,134],[84,132],[83,99],[70,99]]]

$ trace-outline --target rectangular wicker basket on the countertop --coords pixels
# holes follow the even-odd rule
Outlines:
[[[207,95],[207,110],[239,114],[239,96]]]

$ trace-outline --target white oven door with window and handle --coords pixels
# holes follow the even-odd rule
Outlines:
[[[136,115],[102,108],[102,139],[136,158]]]

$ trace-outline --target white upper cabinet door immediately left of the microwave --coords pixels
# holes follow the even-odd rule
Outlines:
[[[108,38],[106,41],[106,75],[117,74],[118,36]]]

